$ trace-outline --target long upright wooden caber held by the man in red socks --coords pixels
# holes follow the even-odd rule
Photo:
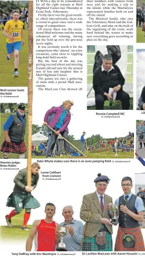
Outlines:
[[[27,186],[31,186],[32,176],[32,104],[33,104],[33,1],[28,5],[28,159],[27,159]]]

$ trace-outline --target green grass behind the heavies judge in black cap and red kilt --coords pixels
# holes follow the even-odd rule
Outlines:
[[[9,117],[10,114],[8,113],[0,113],[1,115],[1,121],[0,121],[0,146],[3,144],[3,141],[5,139],[5,135],[4,135],[4,131],[3,131],[3,125],[4,123],[6,122],[7,118]],[[26,115],[27,117],[27,115]],[[27,124],[28,124],[28,121],[27,121]],[[28,128],[28,126],[27,126]],[[27,148],[27,145],[28,145],[28,130],[26,130],[26,135],[25,135],[25,145],[26,145],[26,148]],[[4,153],[3,152],[0,152],[0,159],[4,158]],[[19,155],[18,154],[14,154],[14,153],[10,153],[8,158],[13,158],[13,159],[16,159],[16,158],[19,158]],[[27,158],[27,151],[25,152],[25,158]]]

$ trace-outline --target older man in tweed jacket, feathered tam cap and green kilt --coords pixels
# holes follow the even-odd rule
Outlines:
[[[112,223],[108,204],[112,198],[105,194],[109,178],[98,174],[94,180],[97,191],[83,197],[80,219],[86,222],[82,251],[112,251]]]

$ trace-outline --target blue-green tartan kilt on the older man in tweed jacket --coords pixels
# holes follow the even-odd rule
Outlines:
[[[98,245],[95,241],[95,237],[87,237],[85,235],[84,240],[82,242],[81,251],[112,251],[112,236],[111,233],[107,230],[104,224],[101,225],[99,231],[106,231],[107,241],[104,245]]]

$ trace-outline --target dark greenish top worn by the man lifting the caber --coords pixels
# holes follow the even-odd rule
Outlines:
[[[38,180],[39,180],[39,173],[37,173],[36,175],[32,173],[32,186],[34,187],[34,189],[37,186]],[[23,193],[23,194],[30,193],[25,190],[25,187],[27,186],[27,168],[24,168],[17,173],[17,175],[14,178],[14,183],[15,183],[14,190],[13,190],[14,192]]]

